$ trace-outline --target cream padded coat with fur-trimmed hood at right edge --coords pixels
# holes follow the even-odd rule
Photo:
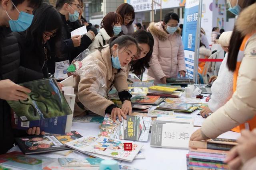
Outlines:
[[[256,31],[256,3],[238,16],[236,27],[242,35]],[[239,48],[239,47],[237,47]],[[236,91],[232,98],[202,125],[202,133],[209,138],[245,123],[256,115],[256,33],[250,37],[239,68]],[[225,85],[223,85],[225,86]]]

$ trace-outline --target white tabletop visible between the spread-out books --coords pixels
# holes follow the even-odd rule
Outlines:
[[[199,111],[194,111],[193,113],[185,114],[185,113],[175,113],[178,115],[186,115],[190,117],[198,117],[197,113]],[[199,116],[200,117],[200,116]],[[97,123],[72,123],[72,130],[77,131],[82,136],[98,136],[100,131],[99,125]],[[198,127],[194,127],[194,131],[196,131]],[[228,139],[237,139],[240,136],[240,133],[228,131],[220,137],[228,138]],[[122,165],[132,166],[134,168],[142,169],[142,170],[186,170],[186,154],[188,150],[186,149],[167,149],[167,148],[153,148],[150,147],[150,136],[147,143],[143,143],[143,151],[146,159],[134,160],[133,162],[125,162],[120,161]],[[13,147],[11,151],[20,151],[18,146]],[[63,157],[53,153],[42,154],[42,156],[59,158]],[[68,157],[88,157],[82,153],[74,152],[68,155]]]

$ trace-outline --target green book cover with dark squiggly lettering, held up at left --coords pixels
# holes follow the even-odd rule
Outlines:
[[[31,90],[28,99],[7,102],[22,121],[72,114],[55,78],[45,78],[19,85]]]

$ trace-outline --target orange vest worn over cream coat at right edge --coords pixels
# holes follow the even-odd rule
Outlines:
[[[236,91],[236,82],[237,82],[237,77],[238,77],[238,70],[240,68],[240,64],[241,64],[242,59],[244,57],[244,49],[246,47],[246,44],[247,44],[248,40],[250,39],[250,37],[252,37],[252,35],[254,35],[254,33],[246,35],[244,37],[243,41],[242,41],[241,46],[240,46],[238,57],[237,57],[237,62],[236,62],[236,70],[234,71],[233,92]],[[246,123],[243,123],[243,124],[241,124],[237,127],[234,127],[231,130],[235,131],[235,132],[240,132],[242,129],[250,129],[250,131],[251,131],[254,128],[256,128],[256,116],[254,116],[254,118],[250,119]]]

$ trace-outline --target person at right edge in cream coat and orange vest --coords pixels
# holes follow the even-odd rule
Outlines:
[[[247,3],[247,1],[245,2]],[[253,2],[252,2],[253,3]],[[235,41],[234,37],[238,40]],[[241,39],[242,37],[242,39]],[[244,43],[244,40],[245,43]],[[202,128],[192,134],[190,140],[216,138],[232,128],[255,118],[256,115],[256,2],[245,8],[236,21],[230,40],[228,68],[234,71],[236,91],[232,98],[203,123]],[[240,45],[239,45],[239,44]],[[243,46],[244,44],[244,46]],[[240,51],[238,49],[240,46]],[[243,48],[242,48],[243,47]],[[232,52],[233,51],[233,52]],[[233,54],[233,55],[232,55]],[[236,55],[234,55],[236,54]],[[231,57],[231,58],[230,58]],[[235,60],[232,60],[234,59]],[[242,60],[242,62],[241,62]],[[241,63],[236,77],[237,63]],[[225,86],[225,84],[223,84]],[[252,130],[255,122],[245,125]]]

